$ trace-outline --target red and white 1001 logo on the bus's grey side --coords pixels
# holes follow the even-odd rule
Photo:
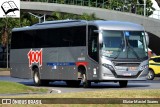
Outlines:
[[[39,67],[42,66],[42,49],[40,51],[30,50],[28,52],[28,59],[29,59],[29,67],[32,66],[33,63],[39,64]]]

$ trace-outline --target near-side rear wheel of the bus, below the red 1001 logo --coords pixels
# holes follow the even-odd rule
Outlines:
[[[35,86],[46,86],[49,84],[49,81],[40,79],[38,68],[33,70],[33,82]]]

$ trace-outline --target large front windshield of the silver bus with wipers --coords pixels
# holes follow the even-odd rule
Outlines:
[[[143,31],[102,32],[102,56],[114,59],[142,59],[147,57],[145,33]]]

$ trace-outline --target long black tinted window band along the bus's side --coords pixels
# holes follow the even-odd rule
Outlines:
[[[12,49],[86,45],[86,26],[38,29],[12,33]]]

